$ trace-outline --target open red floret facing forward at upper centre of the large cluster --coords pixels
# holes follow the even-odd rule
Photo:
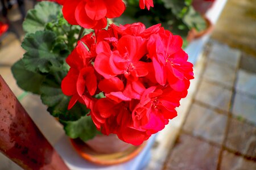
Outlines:
[[[94,67],[104,78],[123,74],[128,80],[137,80],[147,75],[146,63],[139,61],[146,54],[146,40],[141,37],[123,36],[117,50],[112,52],[107,43],[97,46]]]

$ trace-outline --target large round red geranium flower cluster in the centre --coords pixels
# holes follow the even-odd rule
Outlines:
[[[85,35],[67,58],[61,88],[80,101],[103,134],[140,145],[177,113],[193,79],[182,39],[160,24],[110,25]],[[89,50],[88,50],[89,49]],[[104,98],[95,95],[103,92]]]

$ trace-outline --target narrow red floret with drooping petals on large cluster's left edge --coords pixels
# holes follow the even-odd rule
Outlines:
[[[97,89],[97,78],[88,60],[90,57],[90,53],[80,42],[66,59],[71,69],[61,82],[61,90],[63,94],[72,96],[68,109],[77,101],[90,108],[90,101]]]

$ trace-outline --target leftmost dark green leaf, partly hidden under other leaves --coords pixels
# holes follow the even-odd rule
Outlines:
[[[20,88],[24,91],[40,94],[40,86],[45,78],[44,75],[28,71],[24,67],[22,59],[14,63],[11,67],[11,71]]]

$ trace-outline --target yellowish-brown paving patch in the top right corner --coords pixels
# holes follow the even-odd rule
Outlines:
[[[256,56],[255,0],[228,0],[213,38]]]

